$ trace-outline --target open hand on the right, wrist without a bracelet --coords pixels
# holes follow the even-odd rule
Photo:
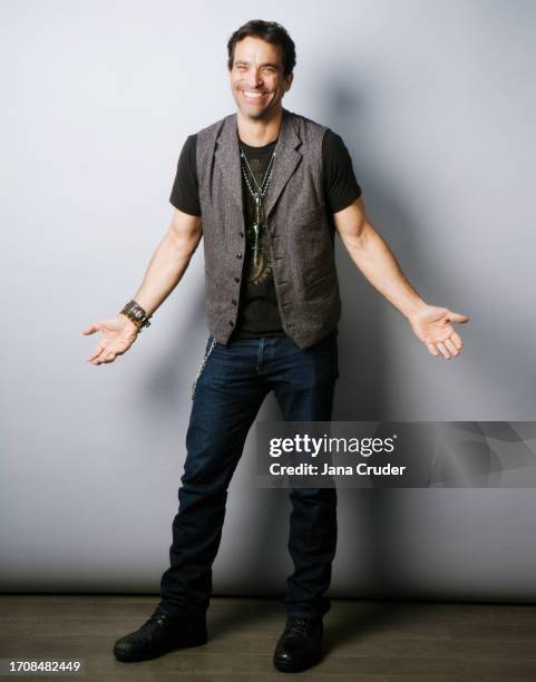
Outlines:
[[[467,315],[455,313],[448,308],[425,305],[408,320],[416,337],[426,343],[432,355],[441,353],[446,360],[459,355],[464,343],[450,322],[468,322]]]

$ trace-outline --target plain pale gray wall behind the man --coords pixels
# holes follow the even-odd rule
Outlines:
[[[290,31],[284,106],[342,135],[369,216],[431,303],[470,315],[436,359],[341,244],[333,418],[533,420],[536,4],[353,0],[0,4],[0,586],[158,590],[205,345],[203,250],[113,364],[90,322],[129,300],[172,215],[186,136],[234,110],[225,45]],[[270,398],[260,415],[279,418]],[[232,483],[218,593],[282,594],[285,491]],[[333,595],[534,601],[534,489],[341,490]]]

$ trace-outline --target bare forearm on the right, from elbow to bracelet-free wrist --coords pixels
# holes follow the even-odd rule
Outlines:
[[[347,249],[372,286],[406,318],[426,305],[407,280],[392,251],[370,225],[359,238],[347,244]]]

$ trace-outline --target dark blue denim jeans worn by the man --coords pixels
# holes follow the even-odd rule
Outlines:
[[[214,347],[193,400],[170,566],[160,583],[162,611],[205,613],[208,607],[227,487],[266,394],[274,391],[285,421],[329,421],[338,377],[337,331],[305,350],[289,338]],[[323,595],[337,546],[337,490],[292,488],[290,497],[294,572],[286,582],[286,613],[321,616],[330,608]]]

